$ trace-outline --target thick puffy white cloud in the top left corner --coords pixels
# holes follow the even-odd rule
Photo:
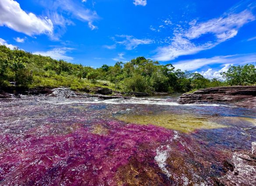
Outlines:
[[[17,1],[0,0],[0,26],[6,26],[26,35],[51,35],[53,23],[47,17],[26,13]]]

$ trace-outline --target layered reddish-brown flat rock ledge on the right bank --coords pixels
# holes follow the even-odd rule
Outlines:
[[[183,94],[180,104],[199,102],[227,102],[239,107],[256,108],[256,86],[232,86],[204,88],[191,94]]]

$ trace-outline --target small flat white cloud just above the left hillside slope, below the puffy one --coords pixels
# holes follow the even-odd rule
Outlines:
[[[67,56],[66,53],[73,50],[73,48],[62,47],[62,48],[55,48],[49,51],[41,51],[41,52],[34,52],[33,54],[40,54],[42,56],[50,56],[55,60],[73,60],[73,57]]]

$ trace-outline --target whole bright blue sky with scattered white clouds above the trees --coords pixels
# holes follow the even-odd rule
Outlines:
[[[256,62],[256,2],[0,0],[0,44],[91,67],[145,56],[220,77]]]

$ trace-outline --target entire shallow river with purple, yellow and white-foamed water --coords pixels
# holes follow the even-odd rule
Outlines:
[[[256,110],[177,98],[2,99],[0,185],[220,185]]]

